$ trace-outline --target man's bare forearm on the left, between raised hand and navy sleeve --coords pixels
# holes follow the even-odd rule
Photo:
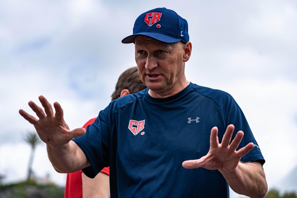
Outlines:
[[[63,145],[47,144],[47,151],[50,162],[59,173],[75,172],[90,166],[86,155],[73,141]]]

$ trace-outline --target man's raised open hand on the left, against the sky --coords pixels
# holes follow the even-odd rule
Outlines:
[[[86,133],[84,128],[77,128],[73,131],[69,130],[63,118],[63,109],[59,103],[54,103],[56,110],[56,114],[54,114],[52,106],[43,96],[39,96],[39,100],[45,112],[34,102],[29,102],[29,106],[36,113],[37,117],[39,117],[39,120],[22,109],[19,110],[19,113],[34,125],[43,142],[53,147],[59,147],[67,144],[72,138],[82,136]]]

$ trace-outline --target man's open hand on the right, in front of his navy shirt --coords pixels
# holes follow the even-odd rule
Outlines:
[[[228,125],[223,136],[222,143],[219,144],[218,128],[213,127],[211,129],[210,148],[207,155],[201,157],[200,159],[184,161],[182,166],[187,169],[199,167],[203,167],[208,170],[218,169],[221,173],[230,173],[234,171],[238,166],[240,158],[249,153],[249,151],[251,151],[254,147],[254,144],[251,142],[236,151],[244,133],[242,131],[238,131],[230,144],[234,128],[234,125]]]

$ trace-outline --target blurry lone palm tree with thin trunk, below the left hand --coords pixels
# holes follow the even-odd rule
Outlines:
[[[30,144],[32,150],[31,150],[31,155],[30,155],[30,159],[29,159],[29,164],[28,164],[28,177],[27,180],[30,180],[31,175],[32,175],[32,163],[33,163],[33,159],[34,159],[34,154],[35,154],[35,147],[37,144],[39,144],[41,142],[41,140],[39,139],[37,133],[35,132],[28,132],[26,135],[26,138],[24,138],[24,140]]]

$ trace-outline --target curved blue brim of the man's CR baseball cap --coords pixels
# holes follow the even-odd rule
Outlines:
[[[151,37],[151,38],[154,38],[156,40],[162,41],[164,43],[177,43],[177,42],[181,41],[181,39],[170,37],[170,36],[167,36],[165,34],[160,34],[160,33],[157,33],[157,32],[140,32],[138,34],[132,34],[132,35],[124,38],[122,40],[122,43],[134,43],[135,37],[137,37],[139,35]]]

